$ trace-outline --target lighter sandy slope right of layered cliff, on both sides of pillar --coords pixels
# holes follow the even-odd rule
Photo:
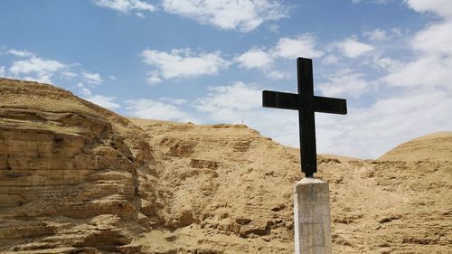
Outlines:
[[[131,121],[149,134],[155,173],[173,190],[164,218],[175,229],[133,244],[159,251],[150,253],[293,253],[297,149],[240,125]],[[334,253],[448,252],[452,133],[419,139],[419,160],[405,160],[403,145],[388,153],[391,160],[319,155],[316,175],[330,183]]]

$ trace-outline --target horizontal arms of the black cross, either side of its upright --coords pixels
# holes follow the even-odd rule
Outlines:
[[[300,96],[295,93],[263,90],[262,106],[265,108],[283,108],[303,110],[300,106]],[[334,99],[327,97],[314,97],[315,112],[347,114],[347,102],[345,99]]]

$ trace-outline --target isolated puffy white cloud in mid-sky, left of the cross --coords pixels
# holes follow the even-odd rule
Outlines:
[[[146,50],[141,52],[141,56],[144,62],[159,69],[158,72],[150,72],[148,80],[151,83],[159,82],[161,78],[168,80],[213,75],[231,64],[221,58],[221,52],[202,52],[195,55],[188,49],[172,50],[169,53]]]

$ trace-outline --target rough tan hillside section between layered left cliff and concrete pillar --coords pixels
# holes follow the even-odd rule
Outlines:
[[[147,245],[159,232],[153,230],[139,244],[161,253],[293,252],[290,201],[292,183],[300,177],[297,150],[243,125],[131,121],[149,134],[155,174],[167,193],[163,221],[174,230],[170,242]]]

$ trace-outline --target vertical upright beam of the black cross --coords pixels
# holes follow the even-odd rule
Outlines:
[[[300,156],[301,167],[306,177],[313,177],[317,172],[317,155],[315,147],[315,108],[314,79],[312,60],[297,59],[297,80],[300,106],[298,124],[300,125]]]

